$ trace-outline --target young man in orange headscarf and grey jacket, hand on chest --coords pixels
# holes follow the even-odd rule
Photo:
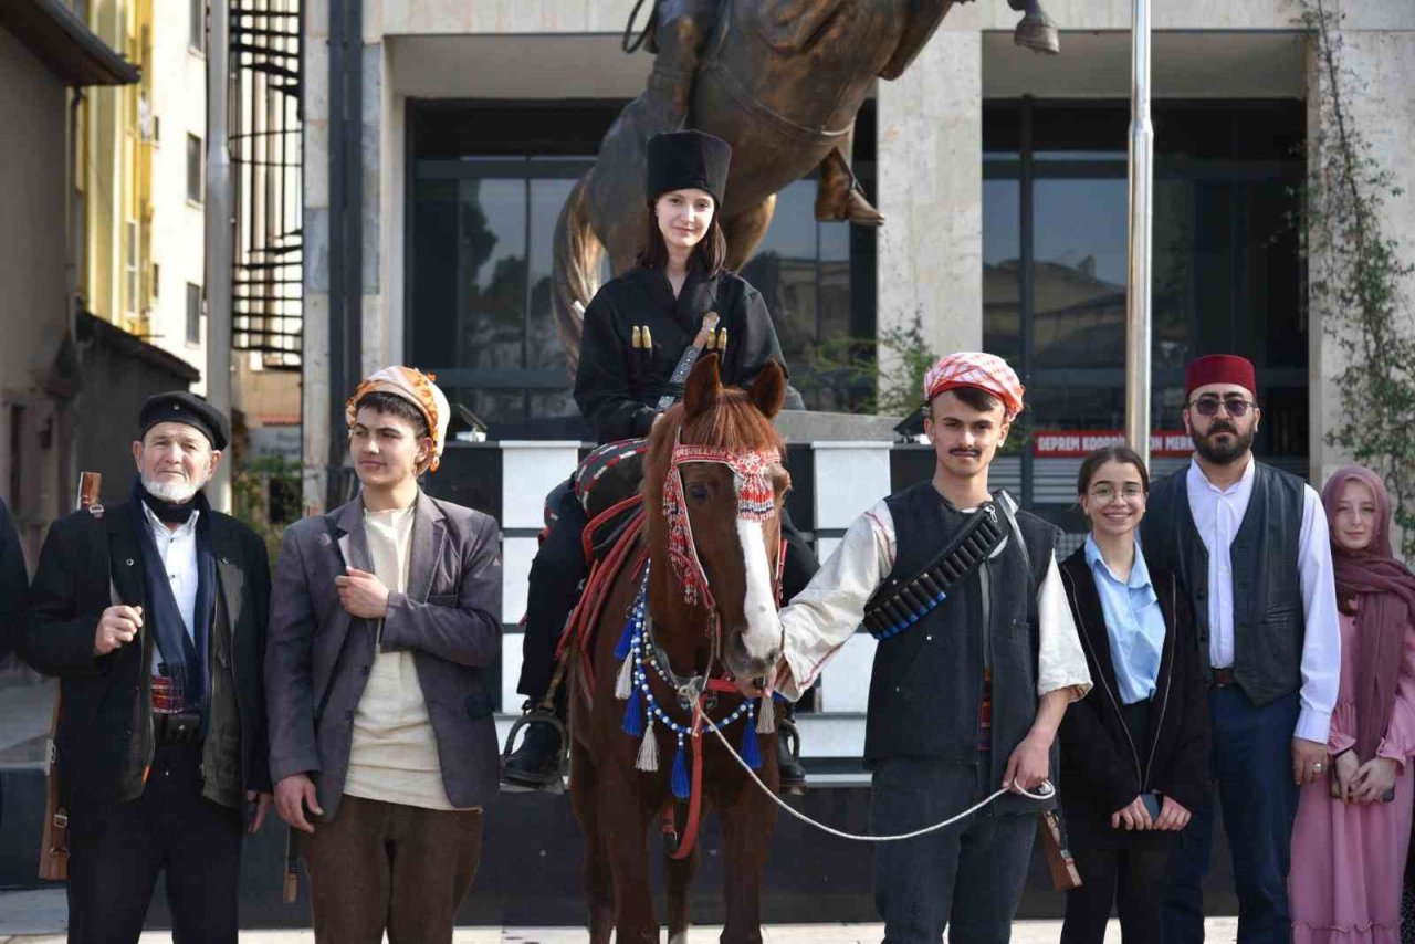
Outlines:
[[[409,367],[348,401],[361,494],[290,525],[270,606],[276,811],[300,829],[321,944],[451,941],[498,791],[501,535],[432,498],[447,398]]]

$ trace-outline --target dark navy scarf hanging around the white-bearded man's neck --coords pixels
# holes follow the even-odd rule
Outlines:
[[[192,613],[195,626],[187,634],[181,609],[173,594],[167,569],[157,552],[153,526],[143,514],[143,505],[153,510],[158,521],[177,524],[187,521],[192,511],[197,518],[197,607]],[[185,511],[185,514],[183,514]],[[143,480],[133,484],[133,526],[143,558],[143,580],[147,586],[147,611],[143,624],[151,627],[168,678],[183,692],[187,710],[198,710],[207,705],[211,665],[211,623],[216,601],[216,555],[211,551],[211,505],[207,495],[197,493],[190,501],[171,502],[153,495],[143,487]]]

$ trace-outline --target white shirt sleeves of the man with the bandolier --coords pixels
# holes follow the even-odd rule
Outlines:
[[[998,546],[998,556],[1007,539]],[[894,517],[884,501],[856,518],[831,559],[811,583],[781,610],[785,631],[785,660],[791,679],[781,693],[795,701],[815,684],[836,650],[855,634],[865,618],[865,604],[894,569]],[[1061,586],[1056,555],[1047,560],[1037,599],[1040,652],[1037,695],[1071,688],[1071,699],[1091,691],[1091,672],[1075,633],[1071,606]]]

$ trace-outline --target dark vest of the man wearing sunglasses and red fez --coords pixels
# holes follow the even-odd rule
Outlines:
[[[1208,551],[1189,505],[1189,470],[1155,485],[1142,524],[1145,555],[1179,575],[1194,609],[1204,678],[1208,650]],[[1230,548],[1234,600],[1234,678],[1264,706],[1302,686],[1306,621],[1298,570],[1306,485],[1254,460],[1252,498]]]

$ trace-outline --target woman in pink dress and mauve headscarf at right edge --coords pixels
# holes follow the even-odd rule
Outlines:
[[[1395,944],[1415,800],[1415,575],[1391,552],[1391,498],[1356,466],[1322,490],[1341,610],[1330,780],[1302,790],[1288,897],[1295,944]]]

